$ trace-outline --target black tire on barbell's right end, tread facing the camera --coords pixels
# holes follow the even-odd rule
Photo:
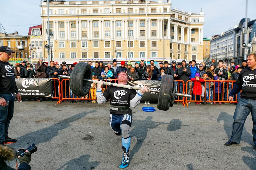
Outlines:
[[[173,93],[173,76],[163,75],[158,95],[157,109],[169,110],[170,100]]]

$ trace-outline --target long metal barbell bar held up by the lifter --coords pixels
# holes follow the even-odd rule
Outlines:
[[[63,79],[70,79],[70,76],[67,75],[60,75],[60,78]],[[96,83],[99,84],[101,83],[101,81],[99,80],[90,80],[90,79],[83,79],[84,81],[87,82],[91,82],[91,83]],[[123,88],[128,88],[128,89],[135,89],[135,90],[141,90],[143,87],[137,87],[137,86],[131,86],[131,85],[125,85],[125,84],[117,84],[117,83],[111,83],[111,82],[105,82],[104,81],[104,85],[107,86],[114,86],[114,87],[123,87]],[[156,89],[148,89],[148,92],[155,92],[155,93],[159,93],[160,90],[156,90]],[[190,95],[188,94],[183,94],[183,93],[175,93],[176,96],[180,96],[180,97],[190,97]]]

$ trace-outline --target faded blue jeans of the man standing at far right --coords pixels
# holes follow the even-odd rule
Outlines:
[[[252,114],[252,136],[253,143],[256,145],[256,100],[240,98],[237,103],[236,110],[234,112],[234,123],[231,141],[239,143],[243,132],[244,122],[247,116]]]

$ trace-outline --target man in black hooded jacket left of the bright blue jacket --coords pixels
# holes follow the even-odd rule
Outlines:
[[[189,67],[187,67],[187,62],[185,60],[182,60],[181,62],[182,67],[179,68],[178,74],[179,79],[183,80],[186,86],[187,81],[189,80],[189,75],[191,74],[191,70]],[[183,93],[183,83],[179,83],[179,93]],[[182,99],[182,97],[180,97]]]

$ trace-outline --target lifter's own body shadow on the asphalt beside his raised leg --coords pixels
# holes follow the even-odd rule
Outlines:
[[[141,148],[142,143],[147,137],[148,130],[154,129],[159,125],[167,124],[164,122],[154,122],[152,121],[153,116],[147,116],[146,120],[132,120],[132,125],[135,127],[130,131],[131,137],[135,136],[137,142],[133,147],[131,153],[129,154],[130,160],[133,155],[135,155],[138,150]]]

